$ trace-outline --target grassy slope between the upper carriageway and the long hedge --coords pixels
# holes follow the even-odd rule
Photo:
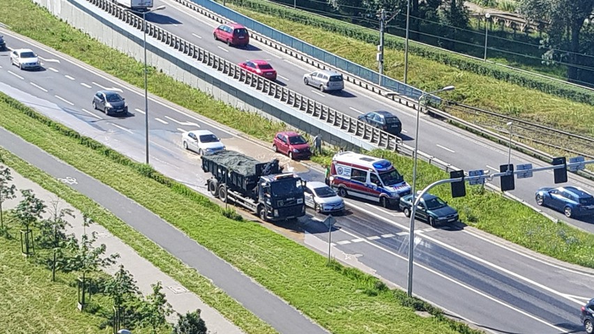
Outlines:
[[[300,24],[280,17],[228,4],[230,8],[275,29],[298,36],[300,40],[321,47],[367,68],[376,69],[376,45],[347,38],[323,29]],[[395,79],[404,77],[404,52],[384,50],[384,74]],[[443,98],[482,109],[489,109],[526,121],[548,124],[568,132],[594,137],[594,108],[526,89],[501,80],[464,72],[436,61],[409,54],[409,84],[425,91],[454,85],[455,91],[443,93]],[[464,114],[457,115],[464,117]]]

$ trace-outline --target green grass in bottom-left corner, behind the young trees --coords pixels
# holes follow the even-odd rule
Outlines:
[[[77,310],[77,288],[68,284],[75,278],[59,273],[59,280],[52,282],[49,270],[22,256],[18,238],[0,237],[0,331],[112,333],[111,328],[98,329],[104,318]]]

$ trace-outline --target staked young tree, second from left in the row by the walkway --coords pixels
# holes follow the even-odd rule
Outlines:
[[[31,250],[34,252],[31,225],[36,225],[38,220],[41,219],[46,206],[43,200],[38,199],[31,189],[21,190],[21,194],[23,199],[15,209],[15,216],[24,227],[21,231],[21,250],[25,255],[30,255]]]

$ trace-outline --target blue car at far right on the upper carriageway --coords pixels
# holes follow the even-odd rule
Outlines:
[[[568,218],[594,214],[594,197],[577,187],[540,188],[536,204],[561,211]]]

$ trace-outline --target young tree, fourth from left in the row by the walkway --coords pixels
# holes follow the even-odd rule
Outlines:
[[[89,227],[93,220],[88,216],[83,216],[83,226],[85,227],[84,234],[80,238],[80,242],[73,238],[68,243],[67,249],[70,256],[66,259],[64,264],[65,271],[79,271],[82,277],[79,280],[79,308],[82,310],[86,304],[86,279],[90,273],[97,271],[98,268],[111,266],[115,263],[115,259],[119,257],[117,254],[112,254],[105,257],[105,244],[102,243],[93,247],[93,243],[97,241],[96,232],[86,234],[86,227]]]

